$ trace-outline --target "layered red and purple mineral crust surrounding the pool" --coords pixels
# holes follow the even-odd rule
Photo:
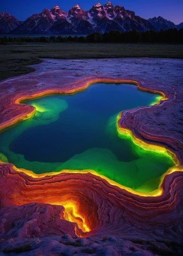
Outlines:
[[[81,62],[45,60],[35,68],[34,73],[0,82],[0,129],[34,114],[33,106],[19,104],[22,99],[52,93],[74,93],[94,82],[133,82],[141,90],[161,92],[164,100],[153,106],[124,111],[118,121],[119,129],[131,132],[143,143],[167,148],[177,167],[176,172],[164,178],[162,193],[140,196],[89,172],[36,177],[16,170],[12,164],[1,163],[2,248],[6,251],[10,245],[14,248],[20,241],[24,245],[29,241],[30,250],[45,253],[47,245],[43,247],[42,243],[48,240],[47,252],[49,250],[52,254],[56,253],[55,246],[59,248],[58,252],[64,252],[68,245],[76,246],[74,243],[80,237],[78,253],[84,252],[84,246],[90,246],[90,250],[98,253],[105,242],[103,240],[106,240],[103,255],[121,255],[119,253],[122,252],[128,255],[131,246],[141,255],[152,255],[154,246],[168,253],[172,248],[167,247],[166,241],[176,241],[176,252],[180,253],[183,203],[182,61],[147,58]],[[99,242],[104,236],[108,236],[107,239]],[[141,239],[143,243],[135,239]],[[150,245],[149,240],[153,241]],[[75,252],[67,248],[66,253]]]

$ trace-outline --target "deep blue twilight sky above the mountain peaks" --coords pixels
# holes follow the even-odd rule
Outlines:
[[[102,5],[106,2],[108,1],[100,1]],[[183,0],[113,0],[111,2],[114,6],[118,4],[125,9],[135,11],[136,15],[142,18],[162,16],[175,24],[183,22]],[[34,13],[40,13],[44,8],[51,9],[56,4],[63,11],[68,11],[75,4],[79,4],[83,10],[87,11],[96,3],[95,0],[2,0],[0,13],[6,11],[19,20],[25,20]]]

